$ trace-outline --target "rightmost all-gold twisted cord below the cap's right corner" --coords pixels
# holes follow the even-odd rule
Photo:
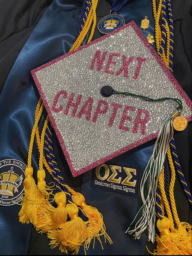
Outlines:
[[[172,208],[173,217],[175,219],[176,225],[179,226],[179,224],[181,222],[179,221],[179,217],[178,217],[177,210],[176,210],[175,199],[174,199],[174,195],[173,195],[173,187],[174,187],[174,184],[175,184],[175,168],[174,168],[173,160],[172,160],[172,157],[171,157],[170,146],[168,146],[168,149],[167,149],[167,158],[168,158],[169,166],[170,166],[170,169],[171,169],[171,181],[170,181],[170,186],[169,186],[169,195],[170,195],[171,208]]]

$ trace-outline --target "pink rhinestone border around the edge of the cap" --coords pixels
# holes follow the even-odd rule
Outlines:
[[[179,93],[181,94],[182,98],[185,100],[187,105],[190,107],[190,109],[192,109],[191,108],[191,100],[189,99],[187,94],[184,92],[182,87],[179,85],[179,83],[176,81],[176,79],[171,74],[171,72],[167,69],[167,67],[165,66],[165,64],[163,63],[163,61],[160,59],[159,55],[157,54],[157,52],[153,49],[153,47],[149,44],[147,39],[141,33],[140,29],[137,27],[137,25],[136,25],[136,23],[134,21],[129,22],[128,24],[124,25],[123,27],[118,28],[117,30],[111,32],[110,34],[106,34],[103,37],[98,38],[98,39],[92,41],[89,44],[83,45],[83,46],[79,47],[78,49],[76,49],[74,51],[71,51],[71,52],[69,52],[69,53],[67,53],[67,54],[65,54],[65,55],[63,55],[63,56],[61,56],[61,57],[59,57],[57,59],[54,59],[53,61],[50,61],[50,62],[44,64],[43,66],[40,66],[38,68],[33,69],[31,71],[31,74],[32,74],[33,79],[35,81],[35,84],[36,84],[36,86],[37,86],[37,88],[39,90],[40,96],[41,96],[41,98],[42,98],[42,100],[44,102],[44,105],[45,105],[45,108],[47,110],[47,113],[49,114],[50,120],[51,120],[52,125],[53,125],[53,127],[55,129],[55,132],[57,134],[57,137],[59,139],[60,145],[62,147],[62,150],[64,152],[65,158],[66,158],[66,160],[68,162],[68,165],[69,165],[69,168],[70,168],[70,170],[72,172],[73,177],[76,177],[76,176],[82,174],[83,172],[86,172],[86,171],[94,168],[95,166],[98,166],[99,164],[102,164],[102,163],[104,163],[104,162],[106,162],[106,161],[108,161],[108,160],[110,160],[110,159],[112,159],[112,158],[114,158],[114,157],[116,157],[116,156],[118,156],[118,155],[120,155],[120,154],[122,154],[122,153],[124,153],[124,152],[126,152],[126,151],[128,151],[130,149],[132,149],[132,148],[135,148],[135,147],[137,147],[137,146],[139,146],[139,145],[141,145],[141,144],[143,144],[143,143],[145,143],[145,142],[147,142],[149,140],[152,140],[152,139],[156,138],[158,136],[158,132],[157,133],[153,133],[153,134],[147,136],[146,138],[143,138],[142,140],[139,140],[139,141],[137,141],[137,142],[135,142],[133,144],[130,144],[130,145],[128,145],[128,146],[118,150],[117,152],[112,153],[111,155],[106,156],[106,157],[98,160],[97,162],[94,162],[94,163],[92,163],[92,164],[90,164],[90,165],[88,165],[88,166],[86,166],[86,167],[84,167],[84,168],[82,168],[80,170],[75,170],[74,167],[73,167],[73,164],[71,162],[71,159],[70,159],[69,153],[67,151],[67,148],[65,147],[64,141],[63,141],[63,139],[61,137],[61,134],[59,133],[59,130],[58,130],[57,126],[56,126],[55,120],[54,120],[54,118],[53,118],[53,116],[51,114],[51,110],[49,108],[49,105],[47,104],[47,101],[46,101],[45,96],[43,94],[43,91],[41,89],[41,85],[39,84],[39,81],[38,81],[37,76],[35,75],[35,73],[37,71],[43,69],[43,68],[46,68],[46,67],[52,65],[53,63],[56,63],[57,61],[60,61],[61,59],[64,59],[64,58],[68,57],[71,54],[74,54],[75,52],[81,51],[82,49],[84,49],[86,47],[89,47],[92,44],[98,43],[99,41],[104,40],[105,38],[110,37],[111,35],[114,35],[114,34],[122,31],[123,29],[125,29],[125,28],[127,28],[129,26],[133,27],[133,29],[135,30],[137,35],[141,38],[141,40],[143,41],[145,46],[149,49],[149,51],[152,53],[152,55],[156,58],[157,62],[159,63],[159,65],[161,66],[161,68],[163,69],[165,74],[168,76],[170,81],[173,83],[175,88],[179,91]],[[188,122],[191,121],[191,117],[192,116],[187,117],[187,121]]]

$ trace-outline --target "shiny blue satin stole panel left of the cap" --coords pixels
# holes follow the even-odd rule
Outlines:
[[[80,0],[55,0],[35,27],[11,69],[0,96],[0,119],[3,124],[0,160],[15,158],[27,163],[34,113],[39,99],[30,71],[69,51],[74,43],[81,6]],[[36,145],[32,164],[36,175]],[[31,225],[19,222],[20,208],[19,205],[0,206],[2,255],[27,254]]]

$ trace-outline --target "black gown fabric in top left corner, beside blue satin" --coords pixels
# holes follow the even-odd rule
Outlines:
[[[0,1],[0,94],[17,56],[51,2]]]

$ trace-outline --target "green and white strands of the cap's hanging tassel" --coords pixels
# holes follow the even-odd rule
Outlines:
[[[172,118],[172,116],[167,117],[159,130],[152,156],[145,168],[140,184],[140,210],[126,231],[126,233],[133,235],[135,239],[139,239],[147,229],[148,241],[152,243],[155,241],[155,194],[167,148],[173,136]],[[138,215],[139,220],[135,224]]]

